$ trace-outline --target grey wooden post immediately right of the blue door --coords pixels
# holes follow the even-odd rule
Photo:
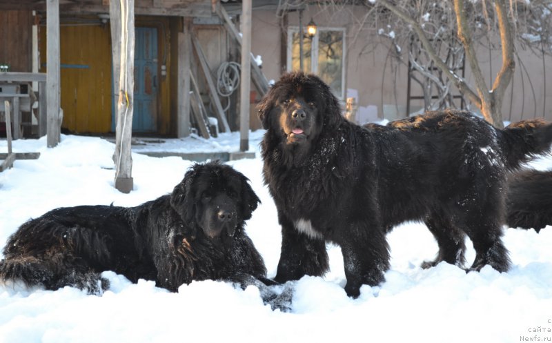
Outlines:
[[[177,137],[190,135],[190,66],[192,63],[192,18],[184,18],[184,32],[178,32]]]

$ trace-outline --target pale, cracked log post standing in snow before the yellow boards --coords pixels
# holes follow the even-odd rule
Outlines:
[[[115,188],[130,193],[132,180],[132,112],[134,104],[134,0],[110,1],[110,21],[119,31],[119,100],[117,101],[117,125],[115,137]],[[119,21],[119,23],[117,23]]]

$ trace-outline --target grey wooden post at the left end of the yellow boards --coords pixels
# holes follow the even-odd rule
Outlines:
[[[61,134],[59,108],[61,93],[59,89],[59,0],[46,0],[46,134],[48,148],[59,144]]]

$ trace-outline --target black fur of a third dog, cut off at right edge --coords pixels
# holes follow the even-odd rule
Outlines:
[[[506,223],[540,232],[552,225],[552,170],[523,170],[509,177]]]

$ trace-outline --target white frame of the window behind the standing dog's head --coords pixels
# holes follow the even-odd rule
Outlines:
[[[304,35],[306,36],[306,28],[303,28]],[[331,26],[319,26],[316,30],[316,35],[313,37],[313,41],[311,43],[311,70],[315,75],[318,75],[318,40],[319,40],[319,32],[321,31],[337,31],[342,32],[343,35],[343,41],[342,41],[342,50],[343,50],[343,56],[342,56],[342,71],[341,71],[341,84],[342,84],[342,90],[341,94],[334,95],[337,97],[337,99],[344,101],[346,97],[346,58],[347,58],[347,44],[346,44],[346,28],[335,28]],[[288,37],[287,37],[287,61],[286,61],[286,70],[292,71],[292,52],[293,52],[293,34],[297,33],[299,34],[299,26],[288,26]]]

